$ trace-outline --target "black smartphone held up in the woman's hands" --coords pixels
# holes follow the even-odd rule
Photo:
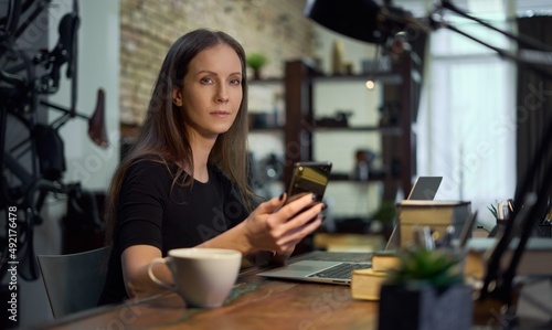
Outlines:
[[[304,161],[294,163],[286,204],[306,193],[316,194],[315,202],[321,202],[326,187],[330,181],[330,161]]]

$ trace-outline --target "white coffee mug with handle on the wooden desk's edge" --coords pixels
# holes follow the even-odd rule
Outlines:
[[[155,264],[167,264],[174,285],[170,286],[152,272]],[[226,248],[176,248],[168,259],[155,258],[148,265],[148,275],[156,284],[177,291],[190,307],[214,308],[224,304],[234,286],[242,253]]]

